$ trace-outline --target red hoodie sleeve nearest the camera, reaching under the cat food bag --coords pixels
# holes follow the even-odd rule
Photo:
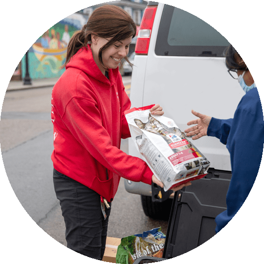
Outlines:
[[[78,142],[107,169],[128,180],[151,184],[153,173],[147,164],[112,145],[94,101],[71,99],[62,119]]]

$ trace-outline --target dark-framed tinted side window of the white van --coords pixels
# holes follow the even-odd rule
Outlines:
[[[158,30],[158,56],[223,57],[229,42],[213,27],[177,7],[165,5]]]

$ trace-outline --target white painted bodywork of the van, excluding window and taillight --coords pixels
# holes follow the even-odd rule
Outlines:
[[[238,81],[228,74],[225,58],[155,54],[163,7],[164,4],[159,3],[148,55],[134,57],[130,95],[132,107],[160,104],[164,116],[173,119],[182,132],[188,128],[187,122],[197,119],[191,113],[192,109],[219,119],[233,118],[245,93]],[[211,168],[231,171],[229,152],[219,139],[209,136],[198,140],[188,139],[209,160]],[[129,154],[140,157],[132,140],[129,140]],[[151,188],[144,188],[147,188],[144,194],[142,188],[138,188],[139,194],[149,195]]]

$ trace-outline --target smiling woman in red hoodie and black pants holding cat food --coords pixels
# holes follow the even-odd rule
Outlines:
[[[143,160],[120,150],[121,138],[131,136],[124,115],[131,102],[118,65],[127,60],[135,32],[122,8],[97,8],[70,39],[66,71],[52,91],[54,187],[67,247],[97,260],[120,177],[163,187]],[[150,111],[163,115],[159,105]]]

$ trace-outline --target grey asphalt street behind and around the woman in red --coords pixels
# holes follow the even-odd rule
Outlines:
[[[124,78],[128,94],[130,78]],[[64,219],[52,179],[52,88],[6,92],[0,120],[0,144],[8,180],[21,205],[39,227],[66,245]],[[128,153],[127,140],[122,140],[121,149]],[[122,179],[112,203],[108,236],[122,238],[159,226],[166,234],[167,225],[167,221],[145,216],[140,196],[126,192]]]

